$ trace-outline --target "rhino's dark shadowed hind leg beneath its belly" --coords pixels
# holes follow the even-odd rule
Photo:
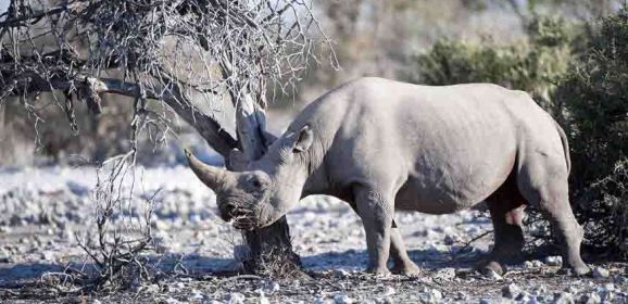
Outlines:
[[[514,178],[508,178],[498,191],[487,199],[494,230],[493,250],[480,264],[481,270],[505,273],[505,265],[519,262],[524,249],[524,198]]]

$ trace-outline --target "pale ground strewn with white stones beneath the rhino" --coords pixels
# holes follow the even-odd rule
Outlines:
[[[213,193],[184,166],[139,169],[136,176],[131,204],[141,205],[142,199],[158,193],[151,225],[160,253],[150,255],[163,257],[160,267],[180,276],[113,294],[35,292],[40,290],[38,282],[59,277],[55,274],[68,263],[89,261],[76,245],[75,232],[93,228],[90,195],[96,170],[0,169],[0,299],[18,303],[149,299],[161,303],[628,301],[627,267],[621,263],[596,265],[600,268],[593,278],[558,274],[561,261],[555,257],[515,265],[504,277],[477,275],[473,262],[488,251],[491,236],[461,249],[491,229],[481,211],[441,216],[399,213],[397,223],[411,257],[424,274],[419,278],[365,275],[360,218],[344,203],[326,197],[303,200],[288,216],[294,249],[312,279],[213,276],[238,267],[233,256],[240,242],[239,233],[217,217]]]

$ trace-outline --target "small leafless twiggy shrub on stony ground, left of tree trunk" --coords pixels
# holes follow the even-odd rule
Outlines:
[[[147,259],[140,253],[152,249],[153,206],[152,199],[139,207],[133,201],[134,156],[129,153],[109,160],[104,166],[111,168],[104,179],[101,173],[105,168],[100,168],[95,190],[96,229],[77,236],[79,246],[91,257],[97,270],[97,276],[88,276],[87,286],[129,286],[135,280],[149,279]],[[130,182],[130,189],[124,189],[123,182]]]

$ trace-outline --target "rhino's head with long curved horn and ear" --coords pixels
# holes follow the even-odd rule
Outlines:
[[[239,172],[206,165],[187,150],[186,156],[199,179],[216,193],[221,217],[234,219],[236,228],[251,230],[273,224],[299,201],[307,179],[312,142],[307,126],[288,131],[259,161],[240,163]],[[238,152],[231,160],[242,159]]]

